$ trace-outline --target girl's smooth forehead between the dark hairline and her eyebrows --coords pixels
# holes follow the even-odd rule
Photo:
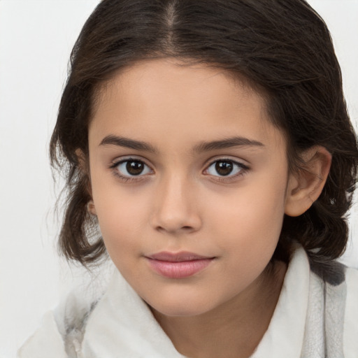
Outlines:
[[[108,80],[99,91],[91,132],[97,141],[109,134],[138,140],[150,135],[171,145],[193,143],[199,135],[203,140],[233,134],[257,141],[266,141],[268,134],[274,141],[280,137],[268,120],[264,97],[247,81],[174,59],[143,60]]]

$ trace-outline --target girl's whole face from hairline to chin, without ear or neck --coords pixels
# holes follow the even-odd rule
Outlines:
[[[289,175],[259,94],[203,64],[138,62],[103,87],[89,145],[106,248],[152,308],[199,315],[261,285]]]

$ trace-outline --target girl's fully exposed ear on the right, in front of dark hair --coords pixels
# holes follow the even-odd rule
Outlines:
[[[285,214],[299,216],[312,206],[320,196],[331,167],[332,155],[315,145],[302,153],[303,166],[298,173],[291,173],[287,183]]]

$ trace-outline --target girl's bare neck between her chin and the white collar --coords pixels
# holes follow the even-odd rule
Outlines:
[[[178,352],[191,358],[247,358],[268,328],[285,278],[286,265],[266,268],[230,301],[201,315],[153,314]]]

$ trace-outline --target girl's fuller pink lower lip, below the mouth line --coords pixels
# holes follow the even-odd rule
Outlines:
[[[152,269],[167,278],[187,278],[208,267],[213,259],[198,259],[182,262],[160,261],[148,259]]]

